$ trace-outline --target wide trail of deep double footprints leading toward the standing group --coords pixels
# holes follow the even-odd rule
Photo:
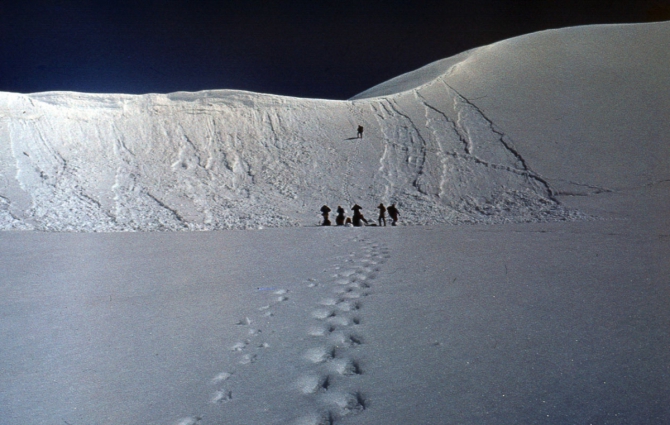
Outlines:
[[[362,332],[366,297],[374,290],[381,265],[389,257],[386,248],[364,238],[352,238],[363,245],[352,252],[324,283],[312,282],[321,298],[311,311],[313,324],[307,334],[312,348],[303,359],[304,374],[297,388],[312,399],[314,411],[298,419],[297,425],[332,425],[348,415],[363,412],[369,404],[360,389],[364,365],[358,359],[365,344]]]

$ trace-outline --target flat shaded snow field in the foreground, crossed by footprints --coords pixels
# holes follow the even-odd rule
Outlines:
[[[600,221],[9,232],[3,418],[667,422],[666,189],[569,200]]]

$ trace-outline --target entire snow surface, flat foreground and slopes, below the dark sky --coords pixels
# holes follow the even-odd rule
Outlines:
[[[530,34],[353,101],[0,93],[0,226],[53,231],[0,237],[0,424],[670,423],[667,45]],[[313,226],[379,202],[403,226]]]

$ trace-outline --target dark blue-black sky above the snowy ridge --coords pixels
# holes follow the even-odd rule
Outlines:
[[[670,0],[0,2],[0,91],[242,89],[346,99],[438,59]]]

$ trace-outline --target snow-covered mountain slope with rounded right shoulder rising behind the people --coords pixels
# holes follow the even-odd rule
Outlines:
[[[0,229],[313,225],[380,202],[408,224],[583,217],[556,195],[670,178],[668,44],[670,23],[546,31],[349,101],[0,93]]]

